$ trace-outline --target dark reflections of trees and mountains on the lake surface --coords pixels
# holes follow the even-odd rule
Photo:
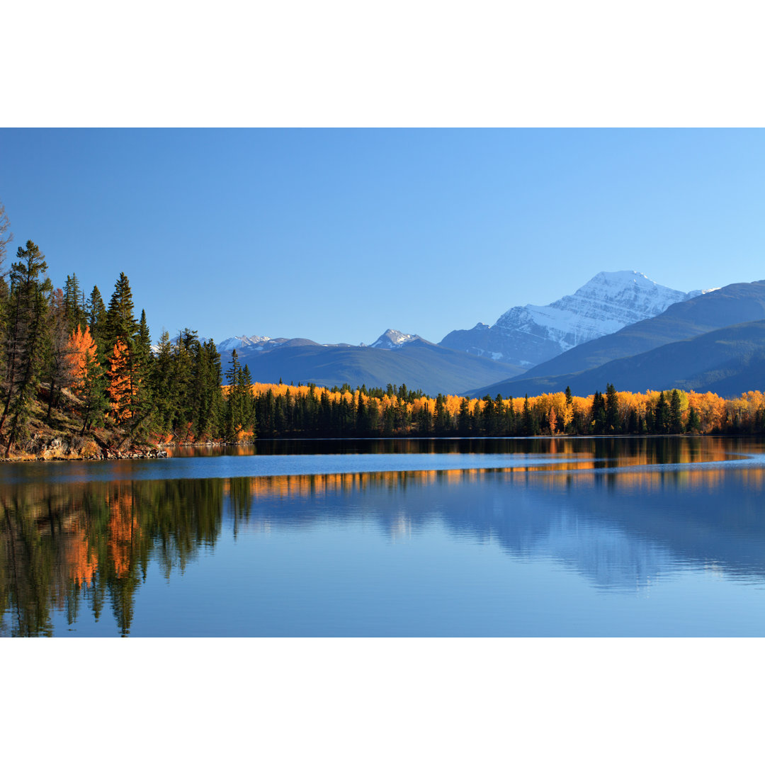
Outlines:
[[[685,565],[765,576],[763,470],[692,467],[726,460],[722,440],[635,439],[618,454],[608,441],[549,441],[578,459],[496,470],[7,484],[0,634],[51,635],[55,611],[72,625],[83,608],[96,620],[108,608],[128,635],[150,562],[169,578],[214,549],[224,526],[239,535],[372,522],[405,542],[441,524],[607,589],[642,591]]]

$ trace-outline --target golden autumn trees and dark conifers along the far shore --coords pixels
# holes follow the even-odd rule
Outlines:
[[[227,387],[223,389],[227,396]],[[405,386],[387,390],[326,389],[256,382],[253,410],[259,435],[672,435],[765,431],[765,396],[616,391],[564,392],[529,398],[424,396]]]

